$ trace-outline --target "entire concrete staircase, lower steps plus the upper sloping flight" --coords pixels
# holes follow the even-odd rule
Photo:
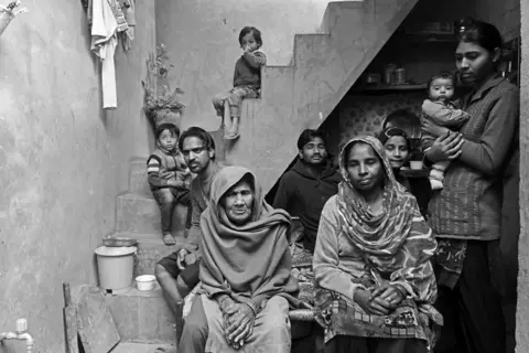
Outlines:
[[[418,0],[331,2],[320,33],[296,34],[289,66],[262,68],[260,99],[244,103],[241,138],[224,145],[215,133],[217,158],[251,168],[268,191],[294,158],[295,139],[316,128],[360,76]],[[134,276],[153,274],[155,263],[175,247],[163,244],[160,211],[147,183],[147,158],[130,161],[128,191],[117,196],[116,236],[137,238]],[[174,236],[183,242],[185,207],[177,206]],[[176,320],[159,287],[131,287],[107,295],[107,306],[121,336],[112,352],[153,353],[174,350]],[[158,352],[158,351],[156,351]]]

